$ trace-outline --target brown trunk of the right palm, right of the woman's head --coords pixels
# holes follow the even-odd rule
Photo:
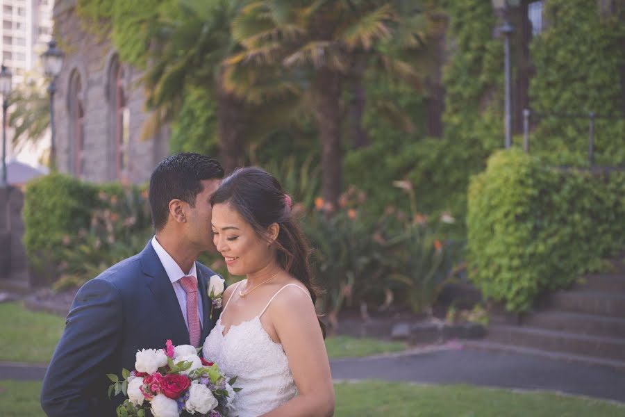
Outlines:
[[[322,142],[322,194],[333,208],[337,207],[342,185],[341,87],[341,74],[327,68],[319,70],[315,115]]]

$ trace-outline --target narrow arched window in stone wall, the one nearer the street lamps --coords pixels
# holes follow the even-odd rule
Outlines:
[[[77,71],[69,79],[69,149],[72,152],[72,173],[81,177],[85,172],[85,108],[83,83]]]

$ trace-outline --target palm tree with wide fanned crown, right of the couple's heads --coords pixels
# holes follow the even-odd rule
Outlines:
[[[414,1],[399,0],[250,1],[233,22],[233,38],[242,51],[229,64],[273,65],[302,80],[322,143],[326,202],[335,205],[341,192],[342,97],[347,85],[362,88],[372,67],[389,76],[419,79],[415,67],[396,52],[422,47],[427,22]]]

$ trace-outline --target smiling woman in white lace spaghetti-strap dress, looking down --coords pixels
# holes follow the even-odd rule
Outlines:
[[[226,178],[211,198],[215,245],[228,272],[203,354],[242,388],[233,416],[332,416],[334,389],[317,318],[308,245],[280,183],[259,168]]]

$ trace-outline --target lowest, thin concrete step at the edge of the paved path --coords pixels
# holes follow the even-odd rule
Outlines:
[[[518,354],[531,354],[533,356],[556,359],[560,361],[590,363],[592,365],[609,366],[625,372],[625,361],[589,357],[582,354],[570,354],[562,352],[550,352],[548,350],[535,349],[533,347],[522,347],[507,345],[505,343],[494,343],[490,341],[462,341],[462,347],[471,350],[485,352],[509,352]]]

